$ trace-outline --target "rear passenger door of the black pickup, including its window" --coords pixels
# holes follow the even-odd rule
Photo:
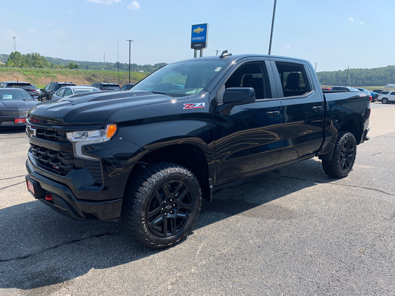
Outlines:
[[[313,71],[305,62],[276,59],[271,62],[277,72],[277,92],[282,92],[282,140],[277,163],[315,153],[324,139],[324,98],[314,89]],[[275,71],[276,69],[276,71]]]

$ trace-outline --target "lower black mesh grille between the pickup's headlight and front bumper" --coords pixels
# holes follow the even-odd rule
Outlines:
[[[72,169],[86,168],[96,185],[103,184],[99,161],[75,158],[72,152],[56,151],[30,143],[36,162],[45,169],[66,176]]]

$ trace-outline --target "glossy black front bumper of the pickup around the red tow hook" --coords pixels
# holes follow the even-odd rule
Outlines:
[[[77,200],[69,187],[35,171],[29,159],[26,160],[26,169],[29,173],[26,179],[30,180],[35,186],[35,198],[56,212],[76,220],[118,221],[122,199],[99,202]],[[53,200],[45,200],[45,196],[49,194],[52,194]]]

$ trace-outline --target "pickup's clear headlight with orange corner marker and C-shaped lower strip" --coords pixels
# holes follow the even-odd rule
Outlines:
[[[67,139],[73,144],[74,156],[77,158],[95,159],[82,154],[82,146],[108,141],[117,131],[116,124],[109,124],[106,129],[96,129],[94,131],[73,131],[67,133]]]

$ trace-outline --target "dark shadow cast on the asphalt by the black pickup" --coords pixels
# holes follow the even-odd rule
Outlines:
[[[314,186],[314,180],[335,179],[324,174],[319,161],[309,159],[216,187],[213,202],[203,201],[193,231],[233,215],[293,219],[286,207],[270,202]],[[163,251],[136,243],[121,223],[74,221],[37,200],[0,210],[0,222],[0,288],[34,289],[26,291],[29,295],[60,289],[56,284],[92,268],[119,266]],[[186,245],[181,242],[173,248],[182,251]]]

